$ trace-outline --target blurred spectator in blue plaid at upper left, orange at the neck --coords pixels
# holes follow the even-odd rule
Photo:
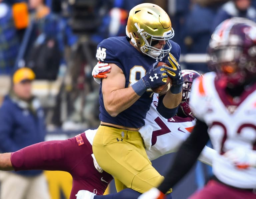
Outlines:
[[[37,79],[55,80],[59,66],[65,64],[66,46],[76,43],[66,20],[52,13],[45,0],[29,0],[32,31],[25,50],[25,63]]]

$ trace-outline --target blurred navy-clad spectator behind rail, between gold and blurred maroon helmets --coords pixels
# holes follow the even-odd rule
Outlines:
[[[219,7],[225,0],[195,0],[179,37],[184,45],[183,53],[206,53],[211,38],[211,25]],[[206,63],[187,63],[186,68],[208,71]]]

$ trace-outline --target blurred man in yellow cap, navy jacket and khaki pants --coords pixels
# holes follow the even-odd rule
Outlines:
[[[43,142],[45,119],[39,100],[32,95],[34,72],[16,70],[12,87],[0,107],[0,151],[13,152]],[[42,170],[1,171],[0,199],[50,199]]]

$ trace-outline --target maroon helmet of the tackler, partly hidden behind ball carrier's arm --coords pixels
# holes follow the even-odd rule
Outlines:
[[[195,70],[181,70],[184,82],[182,84],[182,100],[180,103],[180,108],[182,112],[188,116],[194,118],[188,102],[189,102],[189,94],[191,91],[192,82],[195,78],[202,76],[202,74]]]

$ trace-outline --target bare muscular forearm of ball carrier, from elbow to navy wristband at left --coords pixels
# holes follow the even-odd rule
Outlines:
[[[117,116],[122,111],[129,108],[140,96],[135,93],[132,87],[113,90],[110,94],[103,96],[104,106],[108,114]]]

